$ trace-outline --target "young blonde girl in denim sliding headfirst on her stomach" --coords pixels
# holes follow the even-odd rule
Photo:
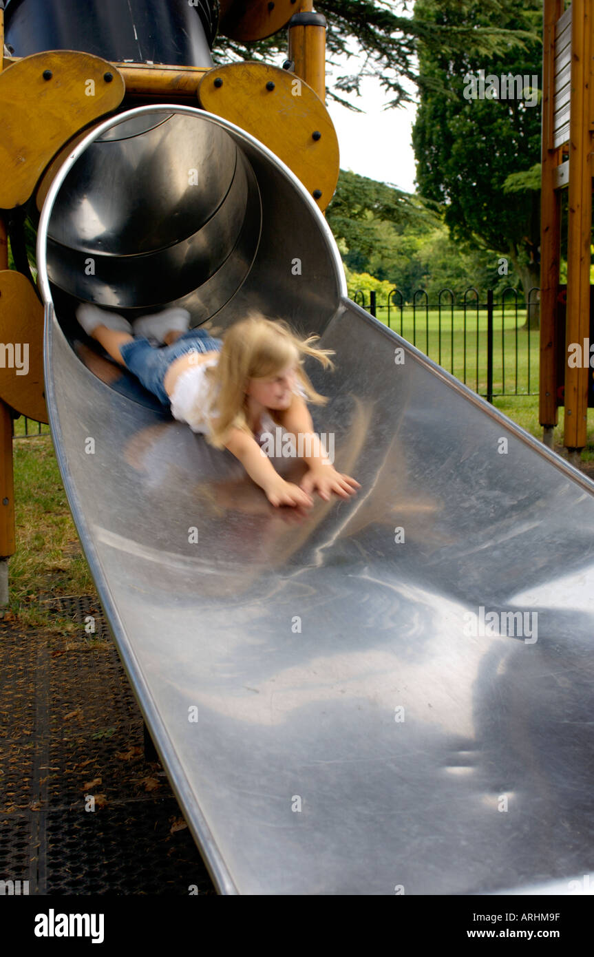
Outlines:
[[[300,340],[287,323],[256,311],[231,325],[224,341],[211,338],[206,329],[189,329],[186,309],[144,316],[134,324],[134,335],[122,316],[89,303],[78,306],[77,320],[145,389],[170,405],[174,418],[205,434],[215,449],[229,449],[273,505],[309,508],[314,491],[328,501],[332,493],[347,499],[361,488],[333,468],[305,404],[306,399],[327,402],[301,367],[302,355],[332,367],[332,352],[311,345],[318,336]],[[165,348],[154,348],[148,336]],[[295,450],[308,452],[302,456],[308,471],[300,485],[282,479],[256,441],[276,426],[293,435]]]

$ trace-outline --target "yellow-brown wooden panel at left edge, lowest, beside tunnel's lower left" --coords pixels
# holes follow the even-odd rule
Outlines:
[[[48,421],[43,382],[43,306],[22,273],[0,271],[0,398]]]

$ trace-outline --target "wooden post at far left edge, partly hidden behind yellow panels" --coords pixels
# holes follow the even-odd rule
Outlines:
[[[0,0],[0,73],[3,66],[4,0]],[[0,215],[0,271],[8,268],[9,243],[6,223]],[[9,407],[0,399],[0,608],[9,602],[9,558],[15,551],[12,416]]]

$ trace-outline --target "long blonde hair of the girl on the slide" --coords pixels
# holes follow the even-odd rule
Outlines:
[[[251,435],[246,415],[247,380],[275,375],[292,363],[297,364],[297,381],[306,401],[325,405],[328,399],[314,389],[302,368],[302,356],[306,355],[317,359],[324,368],[334,368],[328,358],[334,355],[334,350],[316,348],[313,344],[318,340],[319,336],[314,335],[299,339],[284,320],[268,319],[256,310],[248,313],[246,319],[233,323],[224,334],[218,362],[205,370],[211,408],[216,404],[218,412],[210,418],[210,434],[206,436],[209,444],[215,449],[223,448],[231,428]],[[270,412],[275,418],[275,411]]]

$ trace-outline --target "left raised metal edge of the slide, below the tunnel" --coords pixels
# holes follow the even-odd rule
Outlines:
[[[167,768],[167,770],[171,771],[171,777],[167,775],[169,777],[171,788],[174,791],[179,804],[187,815],[187,825],[194,837],[195,842],[200,847],[202,856],[204,857],[205,863],[209,870],[209,875],[217,890],[221,894],[230,896],[237,895],[238,890],[231,879],[231,874],[227,869],[225,861],[219,852],[216,841],[210,832],[206,818],[204,817],[200,806],[196,802],[196,797],[193,791],[189,787],[186,773],[179,762],[177,755],[175,754],[175,750],[167,734],[165,724],[162,722],[161,717],[157,712],[151,711],[150,718],[148,717],[149,710],[146,704],[147,701],[152,701],[152,699],[148,694],[146,682],[143,678],[143,671],[136,656],[134,655],[134,651],[130,643],[127,640],[127,635],[123,627],[121,617],[118,613],[117,606],[111,599],[111,593],[108,588],[104,587],[104,583],[107,582],[107,576],[99,559],[97,549],[95,548],[91,529],[89,523],[86,521],[82,504],[78,499],[74,482],[71,480],[68,461],[63,453],[64,441],[62,431],[60,429],[59,419],[54,412],[55,389],[52,376],[49,374],[49,363],[47,361],[47,357],[51,354],[52,350],[53,335],[54,304],[53,302],[49,302],[46,304],[44,310],[44,379],[46,405],[52,427],[55,457],[57,459],[64,489],[66,491],[66,498],[68,499],[68,504],[77,526],[78,535],[81,540],[84,539],[84,553],[99,592],[99,600],[107,615],[107,620],[114,633],[114,637],[117,636],[116,645],[118,648],[118,653],[121,657],[121,662],[125,669],[126,675],[128,676],[128,680],[133,688],[134,696],[138,701],[139,707],[143,714],[144,722],[151,731],[153,743],[159,753],[159,757],[162,760],[164,768]],[[162,741],[166,741],[169,745],[166,762],[163,758],[163,752],[160,746]],[[174,775],[176,775],[175,783],[171,779]],[[198,818],[198,830],[194,830],[192,827],[192,817]]]

